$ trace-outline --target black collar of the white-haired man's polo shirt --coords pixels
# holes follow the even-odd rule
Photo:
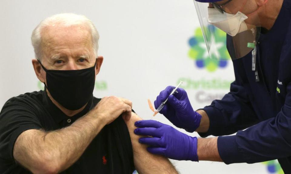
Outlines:
[[[92,96],[90,97],[88,104],[85,106],[85,108],[81,112],[79,112],[78,114],[75,114],[74,116],[69,117],[65,113],[63,113],[52,102],[52,100],[49,98],[49,96],[46,92],[46,88],[44,89],[44,91],[42,93],[42,100],[43,100],[43,104],[44,104],[45,108],[47,109],[47,111],[49,112],[49,114],[55,120],[55,122],[57,124],[61,123],[65,119],[69,119],[69,118],[76,120],[76,119],[82,117],[83,115],[85,115],[87,112],[89,112],[94,106],[93,105],[93,94],[92,94]]]

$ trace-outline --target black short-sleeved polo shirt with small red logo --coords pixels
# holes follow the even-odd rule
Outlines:
[[[0,112],[0,173],[31,173],[15,163],[13,158],[15,140],[23,131],[50,131],[70,126],[100,100],[92,95],[83,111],[68,117],[52,103],[46,91],[10,98]],[[106,125],[78,161],[62,173],[131,174],[133,171],[129,131],[122,117],[119,117]]]

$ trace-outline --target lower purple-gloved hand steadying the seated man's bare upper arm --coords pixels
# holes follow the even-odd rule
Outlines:
[[[139,138],[139,142],[148,144],[150,153],[176,160],[198,161],[197,138],[179,132],[172,126],[154,120],[135,122],[137,135],[152,137]]]

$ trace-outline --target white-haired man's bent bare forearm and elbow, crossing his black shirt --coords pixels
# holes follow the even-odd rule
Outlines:
[[[52,173],[61,172],[79,159],[104,126],[105,123],[89,112],[71,126],[60,130],[31,130],[34,131],[31,132],[33,136],[18,137],[15,142],[18,150],[14,150],[14,158],[28,169],[35,170],[32,172],[42,173],[39,171],[42,169]],[[47,166],[41,166],[43,164]]]

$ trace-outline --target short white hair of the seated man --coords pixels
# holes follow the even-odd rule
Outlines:
[[[72,25],[80,25],[80,24],[85,24],[89,27],[89,30],[91,32],[92,36],[92,45],[93,45],[93,50],[95,53],[95,56],[98,54],[98,40],[99,40],[99,34],[92,23],[86,16],[84,15],[78,15],[78,14],[73,14],[73,13],[62,13],[62,14],[55,14],[49,18],[46,18],[42,20],[38,26],[32,31],[31,35],[31,42],[32,46],[34,48],[34,53],[35,53],[35,58],[38,60],[42,59],[42,29],[44,27],[51,26],[53,24],[60,24],[65,27],[69,27]]]

